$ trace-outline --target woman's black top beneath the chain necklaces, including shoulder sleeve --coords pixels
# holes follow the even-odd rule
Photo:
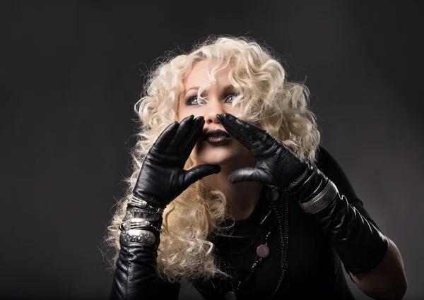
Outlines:
[[[362,201],[356,197],[341,167],[324,148],[319,149],[317,167],[336,184],[339,193],[346,196],[350,205],[375,224],[363,207]],[[273,299],[307,299],[307,297],[312,299],[312,296],[314,299],[354,299],[343,276],[343,263],[314,220],[314,216],[307,215],[299,203],[281,193],[281,200],[276,201],[278,203],[276,206],[283,217],[284,205],[287,205],[288,229],[284,226],[282,230],[278,228],[279,222],[273,211],[259,228],[259,222],[268,214],[271,203],[266,198],[267,191],[268,188],[264,187],[257,206],[246,220],[235,222],[233,235],[245,236],[244,238],[218,236],[213,240],[218,260],[226,261],[235,275],[245,278],[256,258],[257,246],[264,243],[264,236],[271,231],[268,239],[270,254],[257,265],[257,270],[250,280],[240,285],[237,299],[269,299],[281,280],[282,253],[287,257],[288,268]],[[288,235],[286,251],[281,244],[281,236],[283,241],[285,240],[285,230]],[[242,251],[247,246],[249,246],[247,251]],[[239,251],[242,253],[228,254]],[[209,282],[196,280],[193,284],[205,299],[225,299],[225,294],[233,289],[229,280]]]

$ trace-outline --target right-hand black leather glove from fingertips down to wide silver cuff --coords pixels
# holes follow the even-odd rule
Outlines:
[[[314,193],[322,191],[328,179],[322,172],[301,160],[263,129],[237,119],[232,114],[217,115],[224,128],[244,145],[257,164],[232,172],[229,179],[232,184],[240,181],[259,181],[263,184],[285,188],[301,203]]]

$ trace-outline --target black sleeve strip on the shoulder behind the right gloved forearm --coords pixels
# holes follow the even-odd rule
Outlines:
[[[336,159],[323,147],[320,147],[317,153],[317,167],[324,173],[325,176],[336,184],[338,192],[346,197],[348,203],[355,207],[368,222],[371,222],[375,225],[375,227],[377,227],[377,229],[379,229],[377,224],[375,224],[374,220],[372,220],[368,214],[367,210],[365,210],[363,201],[356,196],[356,193],[353,190],[348,177],[343,172],[343,169],[341,169]]]

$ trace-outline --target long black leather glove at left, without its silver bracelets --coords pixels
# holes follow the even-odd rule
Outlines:
[[[184,170],[204,126],[204,117],[188,116],[172,123],[160,133],[143,162],[134,195],[151,205],[165,208],[190,184],[204,176],[220,172],[219,166],[203,164]],[[129,208],[131,203],[129,203]],[[160,227],[162,219],[156,226]],[[180,284],[170,284],[157,275],[160,236],[154,244],[121,242],[114,272],[111,300],[178,299]]]

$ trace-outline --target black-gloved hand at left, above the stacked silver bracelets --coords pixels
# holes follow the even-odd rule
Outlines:
[[[220,172],[220,166],[201,164],[184,170],[205,124],[204,117],[187,116],[160,133],[143,162],[134,187],[134,196],[149,204],[165,208],[194,182]]]

